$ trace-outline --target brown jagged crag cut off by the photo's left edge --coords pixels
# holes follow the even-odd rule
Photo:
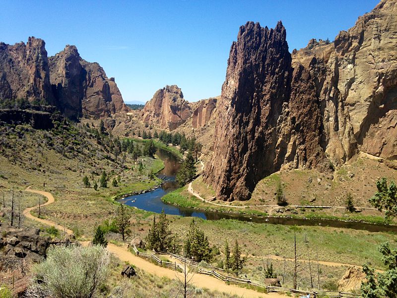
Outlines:
[[[29,37],[13,46],[0,42],[0,99],[17,98],[55,103],[42,39]]]

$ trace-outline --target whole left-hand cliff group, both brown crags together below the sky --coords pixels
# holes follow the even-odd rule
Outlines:
[[[128,112],[114,78],[81,59],[75,46],[47,57],[45,42],[0,43],[0,100],[27,98],[56,105],[68,118],[104,118]]]

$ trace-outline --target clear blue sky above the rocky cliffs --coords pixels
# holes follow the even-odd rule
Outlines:
[[[42,38],[49,56],[75,45],[114,76],[123,98],[177,84],[189,101],[219,95],[230,45],[247,21],[282,20],[289,50],[333,40],[378,0],[1,0],[0,41]]]

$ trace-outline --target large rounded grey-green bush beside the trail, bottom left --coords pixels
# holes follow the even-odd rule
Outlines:
[[[43,263],[33,267],[36,282],[26,296],[99,297],[99,289],[108,278],[109,262],[109,251],[99,245],[54,248]]]

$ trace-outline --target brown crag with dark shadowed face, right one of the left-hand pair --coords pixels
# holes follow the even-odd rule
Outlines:
[[[60,110],[69,118],[105,118],[128,112],[114,78],[98,63],[81,59],[75,46],[49,58],[51,83]]]

